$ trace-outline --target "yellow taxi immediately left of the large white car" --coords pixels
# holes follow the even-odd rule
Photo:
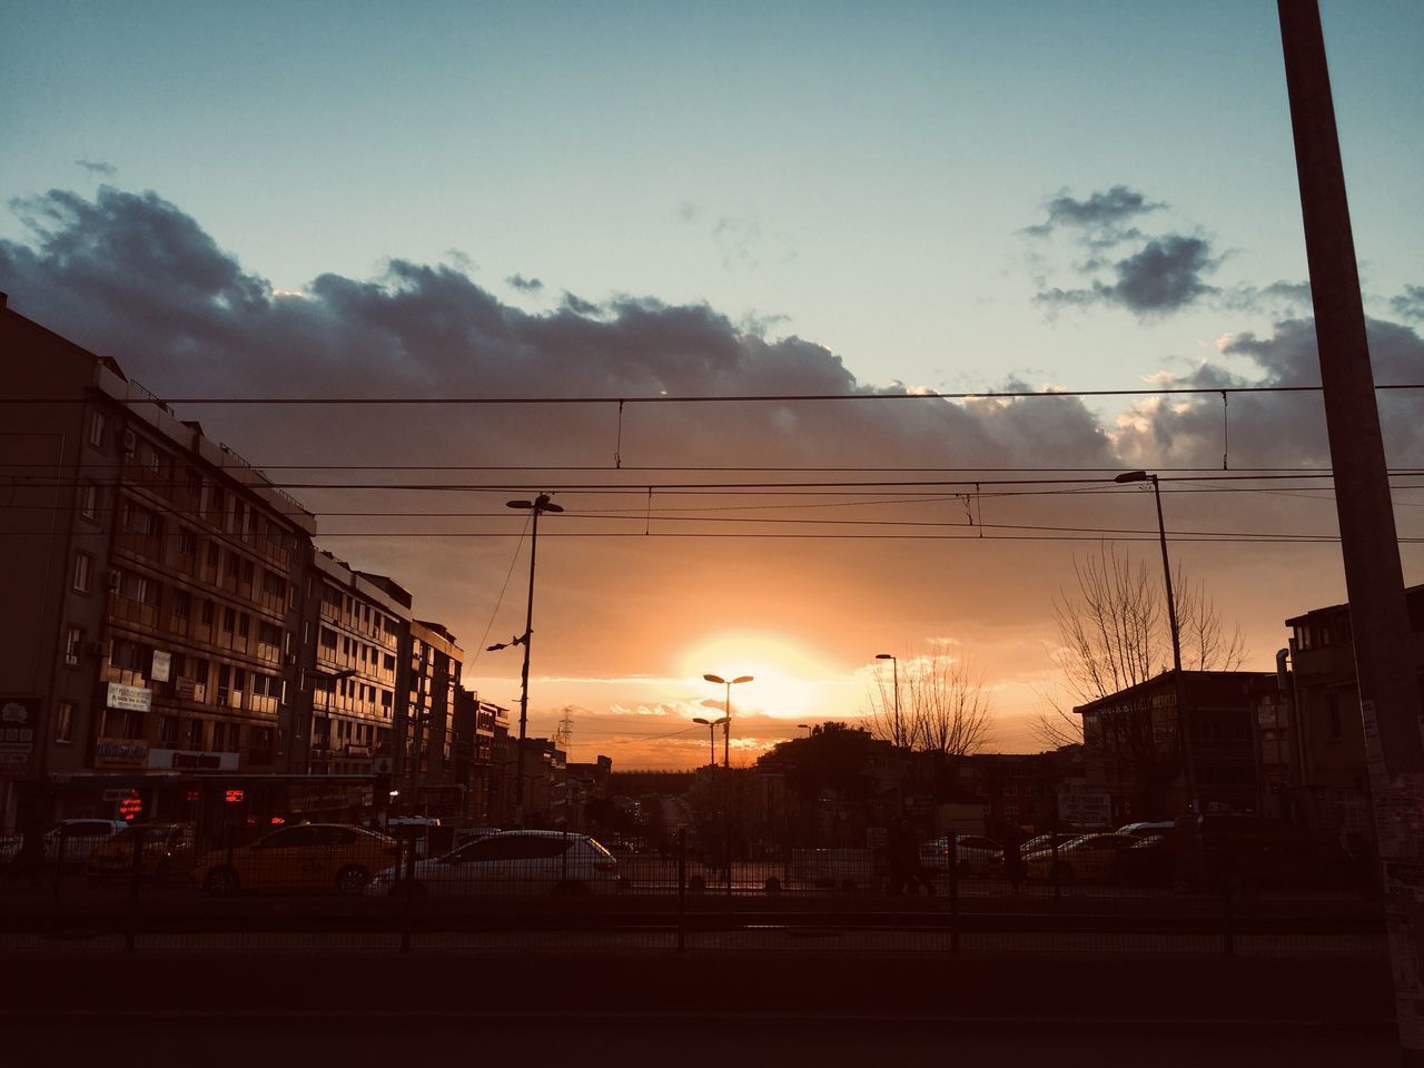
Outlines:
[[[399,857],[394,839],[346,823],[298,823],[256,842],[215,849],[192,866],[209,894],[335,890],[355,896]]]

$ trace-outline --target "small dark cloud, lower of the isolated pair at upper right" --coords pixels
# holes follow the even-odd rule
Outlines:
[[[1094,282],[1088,289],[1045,289],[1035,299],[1052,306],[1115,305],[1138,316],[1159,316],[1218,292],[1203,275],[1219,263],[1205,238],[1173,234],[1149,241],[1141,251],[1116,261],[1111,285]]]

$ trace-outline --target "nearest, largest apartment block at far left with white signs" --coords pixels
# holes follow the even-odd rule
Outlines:
[[[111,359],[0,306],[0,826],[179,815],[188,770],[283,768],[315,518]],[[13,736],[11,736],[13,735]]]

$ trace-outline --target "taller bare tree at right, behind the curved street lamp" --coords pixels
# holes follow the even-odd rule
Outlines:
[[[1062,685],[1044,693],[1040,739],[1049,746],[1082,743],[1088,753],[1114,753],[1134,769],[1145,799],[1156,796],[1179,772],[1176,715],[1152,708],[1146,696],[1125,691],[1172,668],[1172,631],[1162,577],[1126,551],[1104,548],[1074,560],[1074,592],[1054,598],[1058,627],[1055,661]],[[1240,628],[1222,624],[1202,582],[1178,570],[1178,634],[1183,671],[1232,671],[1245,659]],[[1124,695],[1094,716],[1085,735],[1074,708]]]

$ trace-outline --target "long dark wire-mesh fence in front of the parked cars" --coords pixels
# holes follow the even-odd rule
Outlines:
[[[298,824],[198,856],[184,824],[60,834],[44,863],[11,862],[0,879],[0,944],[1386,957],[1367,887],[1256,879],[1220,857],[1183,881],[1098,871],[1068,843],[1005,870],[960,842],[923,843],[920,863],[854,849],[728,863],[685,837],[615,856],[581,834],[504,832],[426,856],[420,829],[403,833]]]

